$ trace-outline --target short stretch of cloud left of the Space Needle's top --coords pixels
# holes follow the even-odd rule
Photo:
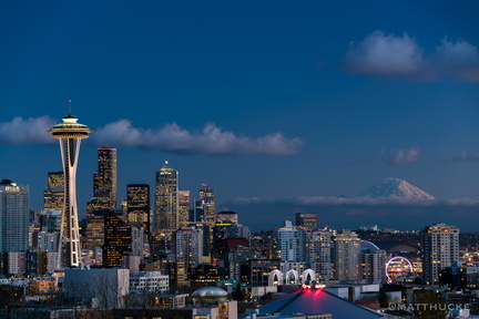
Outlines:
[[[54,143],[47,131],[53,125],[50,116],[14,117],[11,122],[0,123],[0,144]]]

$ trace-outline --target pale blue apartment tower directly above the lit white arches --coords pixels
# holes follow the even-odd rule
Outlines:
[[[276,230],[277,254],[281,261],[299,263],[305,261],[306,230],[293,226],[291,220]]]

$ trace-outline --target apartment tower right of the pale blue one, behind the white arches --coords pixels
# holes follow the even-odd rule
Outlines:
[[[313,269],[318,280],[332,278],[332,236],[327,230],[306,230],[306,265]]]

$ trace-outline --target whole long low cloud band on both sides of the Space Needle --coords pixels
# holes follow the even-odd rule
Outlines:
[[[0,144],[54,143],[47,133],[55,121],[49,116],[22,119],[0,123]],[[286,138],[282,133],[259,137],[238,136],[223,131],[213,123],[200,132],[190,132],[176,123],[163,127],[134,127],[129,120],[109,123],[95,130],[92,145],[114,145],[119,147],[143,147],[179,154],[207,155],[268,155],[287,156],[296,154],[304,142],[300,138]]]

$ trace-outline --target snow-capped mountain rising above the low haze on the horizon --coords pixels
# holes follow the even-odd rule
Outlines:
[[[373,185],[358,197],[368,198],[395,198],[395,199],[436,199],[432,195],[419,189],[399,178],[386,178],[381,183]]]

